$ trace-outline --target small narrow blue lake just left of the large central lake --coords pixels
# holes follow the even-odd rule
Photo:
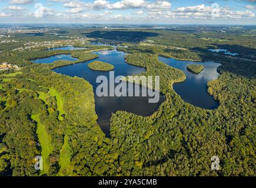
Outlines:
[[[46,58],[32,59],[33,63],[53,63],[55,61],[77,61],[78,58],[73,58],[70,54],[54,55]]]

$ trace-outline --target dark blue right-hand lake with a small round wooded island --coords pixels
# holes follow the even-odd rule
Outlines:
[[[185,73],[187,77],[186,80],[181,83],[175,83],[173,86],[175,92],[178,93],[185,102],[204,109],[216,109],[218,107],[218,102],[207,92],[207,82],[218,78],[220,74],[217,72],[217,68],[221,65],[220,63],[178,61],[162,56],[159,56],[158,59]],[[191,64],[203,65],[204,70],[199,74],[189,72],[187,66]]]

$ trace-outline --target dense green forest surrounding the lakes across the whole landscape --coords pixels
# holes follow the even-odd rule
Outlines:
[[[97,33],[80,30],[78,35]],[[240,46],[242,39],[232,33],[149,30],[135,34],[126,31],[122,42],[128,48],[118,50],[128,52],[127,63],[146,68],[142,75],[160,76],[165,101],[147,117],[113,113],[109,138],[97,123],[89,82],[51,69],[95,59],[97,55],[90,52],[112,46],[22,52],[8,47],[0,53],[0,62],[21,66],[18,72],[0,75],[0,176],[255,176],[255,37],[242,38],[250,42]],[[155,43],[135,43],[141,39]],[[210,44],[233,46],[231,52],[242,50],[232,58],[208,52]],[[50,64],[29,61],[64,53],[79,59]],[[175,82],[186,79],[184,73],[160,62],[159,55],[221,63],[221,75],[208,82],[208,92],[220,106],[206,110],[184,102],[172,89]],[[34,168],[38,155],[46,157],[41,172]],[[220,157],[220,170],[211,170],[214,155]]]

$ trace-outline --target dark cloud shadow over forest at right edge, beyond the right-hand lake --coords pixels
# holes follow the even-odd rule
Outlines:
[[[248,48],[239,45],[219,45],[212,44],[217,47],[217,49],[227,49],[231,53],[239,53],[239,56],[228,56],[224,53],[210,52],[208,49],[204,48],[192,48],[192,50],[200,51],[198,53],[202,61],[215,61],[220,62],[222,66],[218,67],[218,72],[230,72],[235,75],[241,75],[245,78],[252,78],[256,75],[256,49]],[[254,58],[253,58],[254,57]],[[242,59],[244,58],[244,59]],[[245,59],[251,59],[248,61]]]

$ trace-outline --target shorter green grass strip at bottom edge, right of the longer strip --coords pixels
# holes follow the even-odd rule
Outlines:
[[[59,165],[61,170],[59,171],[60,176],[72,176],[72,166],[70,165],[72,157],[72,149],[68,145],[68,136],[64,137],[64,145],[61,149],[61,154],[59,155]]]

